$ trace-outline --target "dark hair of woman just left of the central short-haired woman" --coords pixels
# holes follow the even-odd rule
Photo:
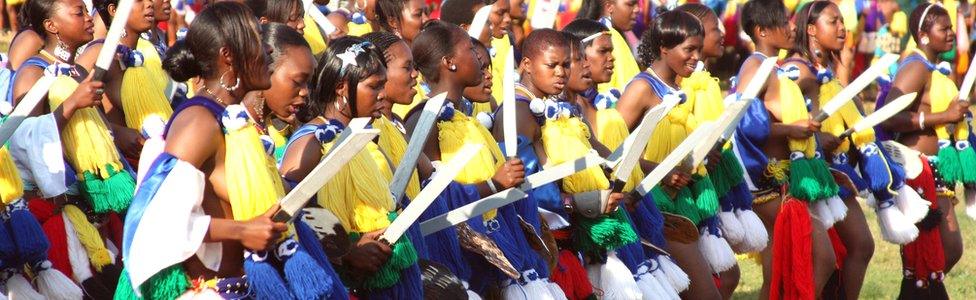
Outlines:
[[[454,47],[469,38],[457,25],[442,21],[428,22],[413,39],[410,49],[424,79],[430,82],[440,81],[441,58],[454,56]]]

